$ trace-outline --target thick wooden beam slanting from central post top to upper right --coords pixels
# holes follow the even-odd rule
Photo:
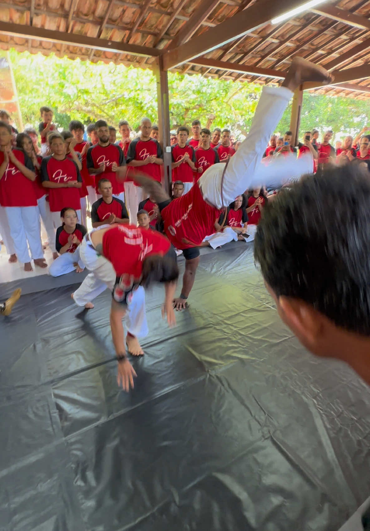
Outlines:
[[[302,5],[302,0],[280,0],[272,4],[270,0],[259,0],[248,9],[217,24],[215,28],[194,37],[187,46],[177,46],[169,50],[163,56],[164,68],[169,70],[187,63],[195,57],[225,46],[229,42],[269,24],[272,19],[299,5]]]

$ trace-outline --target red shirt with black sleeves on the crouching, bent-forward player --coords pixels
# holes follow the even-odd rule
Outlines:
[[[113,298],[127,304],[140,282],[144,259],[153,254],[164,256],[170,251],[171,244],[155,230],[116,225],[103,235],[102,247],[103,255],[116,271]]]

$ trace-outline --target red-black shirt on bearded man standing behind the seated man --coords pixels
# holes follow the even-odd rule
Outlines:
[[[108,179],[111,182],[113,193],[115,195],[124,191],[123,181],[119,181],[116,176],[116,172],[112,172],[112,164],[116,162],[117,166],[125,166],[126,161],[123,155],[122,148],[116,144],[109,145],[93,145],[87,153],[87,167],[99,168],[100,164],[105,162],[105,170],[98,175],[94,175],[95,190],[98,191],[98,183],[100,179]]]

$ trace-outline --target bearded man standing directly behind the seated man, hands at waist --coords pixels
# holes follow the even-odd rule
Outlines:
[[[99,142],[89,148],[87,153],[87,167],[90,175],[95,176],[95,190],[98,194],[98,183],[104,177],[111,182],[113,195],[124,201],[126,161],[122,148],[109,142],[108,124],[104,120],[96,122],[95,131]]]

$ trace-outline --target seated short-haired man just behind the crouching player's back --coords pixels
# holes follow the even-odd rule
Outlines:
[[[113,196],[113,187],[109,179],[100,179],[98,192],[101,198],[92,204],[91,224],[93,228],[113,223],[128,224],[125,203]]]

